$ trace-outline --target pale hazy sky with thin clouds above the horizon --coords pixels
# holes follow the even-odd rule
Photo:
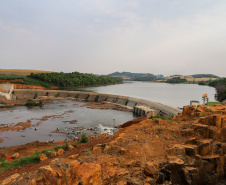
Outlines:
[[[0,0],[0,68],[226,77],[225,0]]]

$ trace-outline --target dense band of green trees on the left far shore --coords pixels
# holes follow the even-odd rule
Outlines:
[[[78,87],[96,86],[122,83],[121,78],[110,76],[96,76],[79,72],[72,73],[31,73],[28,76],[0,75],[0,83],[10,80],[11,83],[25,85],[40,85],[44,87]]]

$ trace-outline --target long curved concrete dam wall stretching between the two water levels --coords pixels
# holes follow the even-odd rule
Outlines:
[[[128,96],[119,96],[113,94],[81,92],[81,91],[63,91],[63,90],[35,90],[35,89],[15,89],[13,91],[17,99],[36,99],[40,96],[75,98],[77,100],[93,102],[111,102],[134,108],[135,106],[145,106],[150,109],[161,111],[163,114],[178,114],[181,110],[164,105],[158,102],[132,98]]]

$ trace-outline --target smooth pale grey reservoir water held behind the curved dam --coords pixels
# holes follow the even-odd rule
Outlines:
[[[209,101],[216,101],[215,88],[198,84],[169,84],[131,81],[117,85],[77,88],[76,90],[131,96],[163,103],[173,107],[189,105],[191,100],[200,101],[200,104],[202,104],[202,95],[205,93],[207,93]]]

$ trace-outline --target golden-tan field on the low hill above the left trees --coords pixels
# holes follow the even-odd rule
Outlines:
[[[52,73],[53,71],[35,70],[35,69],[0,69],[0,74],[22,75],[26,76],[31,73]]]

